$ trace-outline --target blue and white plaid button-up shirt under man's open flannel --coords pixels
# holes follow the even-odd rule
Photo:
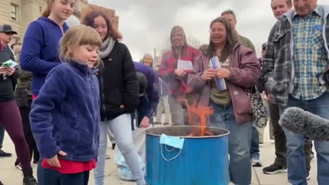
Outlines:
[[[329,62],[322,37],[323,8],[315,8],[306,17],[293,14],[292,26],[295,78],[291,96],[296,99],[315,99],[326,92],[325,86],[319,86],[317,75],[328,69]]]

